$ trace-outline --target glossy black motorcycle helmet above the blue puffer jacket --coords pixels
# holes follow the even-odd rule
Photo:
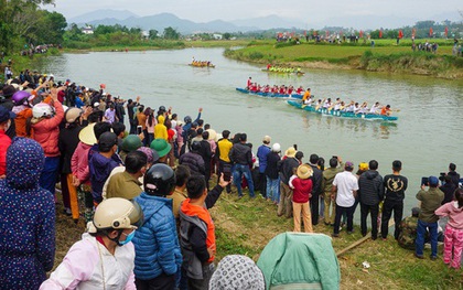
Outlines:
[[[175,189],[175,173],[164,163],[154,164],[144,173],[143,185],[150,195],[171,195]]]

